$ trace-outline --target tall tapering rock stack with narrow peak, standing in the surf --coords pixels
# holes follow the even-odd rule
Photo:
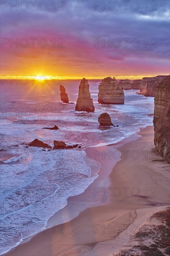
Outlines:
[[[85,78],[82,79],[79,85],[79,93],[75,110],[94,112],[94,104],[89,92],[88,80]]]

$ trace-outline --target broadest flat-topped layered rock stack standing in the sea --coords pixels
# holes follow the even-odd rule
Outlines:
[[[101,104],[124,104],[123,88],[114,78],[106,77],[99,84],[98,102]]]

